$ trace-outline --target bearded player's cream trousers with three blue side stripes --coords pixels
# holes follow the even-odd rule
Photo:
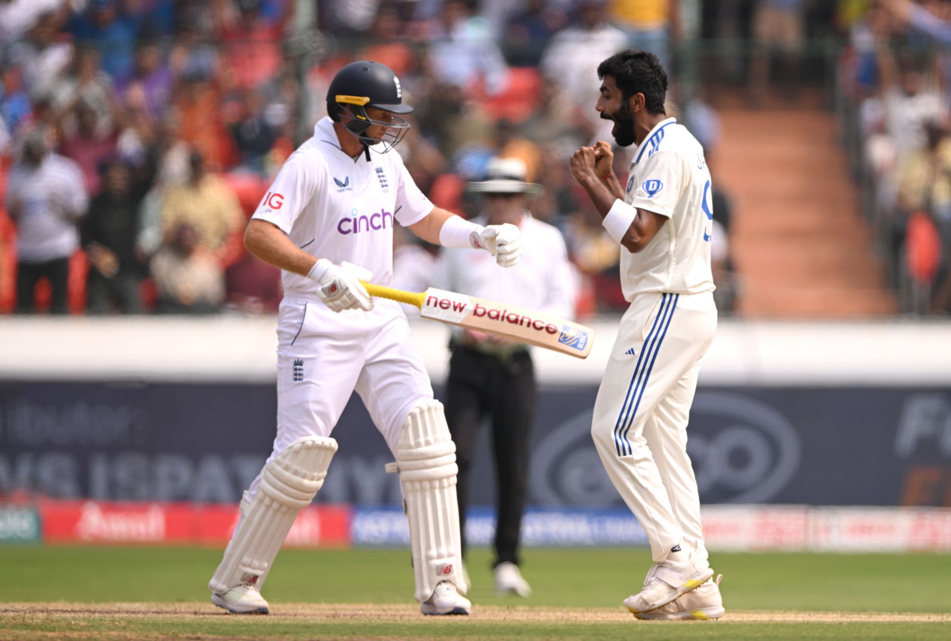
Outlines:
[[[681,542],[707,557],[687,423],[716,319],[711,292],[638,294],[621,319],[594,403],[601,462],[658,563]]]

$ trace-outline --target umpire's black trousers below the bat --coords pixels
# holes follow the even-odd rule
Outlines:
[[[489,416],[497,479],[495,565],[506,561],[518,565],[519,531],[528,494],[529,436],[535,412],[532,356],[528,351],[516,351],[499,357],[461,344],[454,344],[452,350],[446,421],[456,442],[459,466],[456,490],[462,551],[465,554],[465,518],[476,435],[482,420]]]

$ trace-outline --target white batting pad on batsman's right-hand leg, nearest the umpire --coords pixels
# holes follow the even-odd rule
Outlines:
[[[465,593],[456,501],[456,444],[442,403],[417,405],[403,422],[397,441],[397,469],[410,524],[416,598],[428,599],[440,581]]]

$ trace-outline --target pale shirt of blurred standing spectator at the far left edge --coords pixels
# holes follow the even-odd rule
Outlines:
[[[68,258],[79,247],[76,221],[88,205],[83,174],[68,158],[48,153],[39,167],[14,165],[7,178],[7,207],[20,202],[17,258],[45,263]]]

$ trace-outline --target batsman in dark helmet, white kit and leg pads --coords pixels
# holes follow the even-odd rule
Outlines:
[[[244,234],[244,247],[281,268],[278,415],[274,451],[241,501],[241,519],[208,583],[211,601],[263,613],[261,595],[299,511],[337,451],[330,433],[356,390],[396,457],[423,614],[469,614],[459,546],[456,446],[387,285],[393,226],[450,248],[487,250],[502,267],[520,256],[514,225],[482,227],[434,207],[398,153],[410,129],[399,79],[358,61],[334,77],[327,116],[287,159]],[[376,304],[375,304],[376,303]]]

